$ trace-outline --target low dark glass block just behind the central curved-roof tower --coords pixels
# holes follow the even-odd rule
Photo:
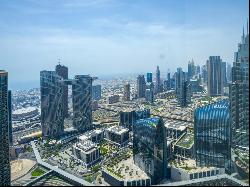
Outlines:
[[[120,111],[120,125],[132,130],[132,126],[136,120],[149,117],[150,109]]]

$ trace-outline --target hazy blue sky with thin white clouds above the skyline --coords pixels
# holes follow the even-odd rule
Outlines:
[[[232,63],[248,0],[0,0],[0,69],[39,86],[60,59],[76,74],[162,72],[209,56]]]

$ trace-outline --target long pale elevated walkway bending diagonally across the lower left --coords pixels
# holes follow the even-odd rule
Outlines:
[[[36,145],[35,145],[35,142],[32,141],[31,142],[31,146],[33,148],[33,151],[35,153],[35,156],[36,156],[36,160],[37,160],[37,163],[42,165],[43,167],[49,169],[49,170],[52,170],[54,171],[55,173],[57,173],[59,176],[71,181],[72,183],[74,183],[75,185],[78,185],[78,186],[95,186],[94,184],[92,183],[89,183],[83,179],[80,179],[70,173],[67,173],[65,171],[63,171],[62,169],[60,169],[58,166],[52,166],[50,164],[48,164],[47,162],[44,162],[42,159],[41,159],[41,156],[38,152],[38,149],[36,148]]]

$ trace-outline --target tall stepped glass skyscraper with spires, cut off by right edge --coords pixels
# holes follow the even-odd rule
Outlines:
[[[247,29],[248,30],[248,29]],[[234,54],[232,83],[229,85],[233,147],[249,149],[249,33]]]

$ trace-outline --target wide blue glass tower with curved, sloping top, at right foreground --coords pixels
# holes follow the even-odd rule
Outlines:
[[[198,166],[231,169],[231,125],[229,101],[220,100],[196,108],[194,145]]]

